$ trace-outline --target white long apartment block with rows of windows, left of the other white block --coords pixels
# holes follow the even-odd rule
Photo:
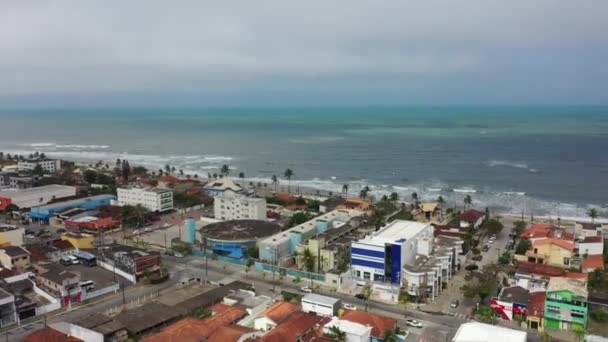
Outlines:
[[[118,188],[119,205],[138,205],[150,211],[173,209],[173,192],[167,189]]]

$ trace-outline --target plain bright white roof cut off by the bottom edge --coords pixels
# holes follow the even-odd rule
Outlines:
[[[526,342],[527,338],[525,331],[469,322],[460,325],[452,342]]]

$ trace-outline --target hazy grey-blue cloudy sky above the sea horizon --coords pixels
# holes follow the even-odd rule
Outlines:
[[[606,0],[0,0],[0,107],[608,104]]]

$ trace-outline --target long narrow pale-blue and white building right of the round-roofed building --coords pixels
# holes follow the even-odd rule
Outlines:
[[[340,223],[349,222],[352,218],[362,216],[363,212],[357,210],[333,210],[310,221],[292,227],[283,232],[274,234],[258,243],[260,260],[277,264],[291,261],[291,255],[297,246],[311,237],[333,229]]]

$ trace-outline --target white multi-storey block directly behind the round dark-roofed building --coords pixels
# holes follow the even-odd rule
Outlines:
[[[265,220],[266,199],[224,191],[213,201],[213,214],[220,220]]]

